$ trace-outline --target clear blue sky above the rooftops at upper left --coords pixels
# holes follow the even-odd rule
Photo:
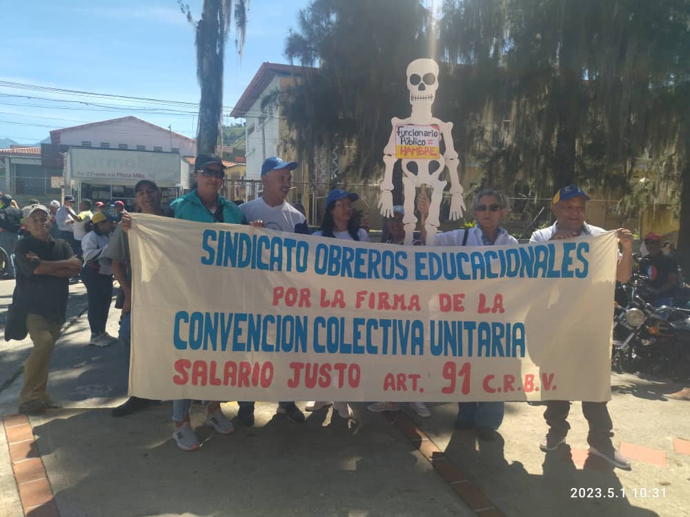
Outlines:
[[[202,0],[186,0],[195,19]],[[242,60],[235,30],[226,45],[224,99],[230,112],[264,61],[283,56],[290,29],[308,0],[250,0]],[[177,0],[11,1],[3,6],[0,84],[198,103],[195,30]],[[46,100],[46,99],[59,99]],[[68,102],[72,101],[72,102]],[[77,102],[75,102],[77,101]],[[94,104],[117,105],[112,110]],[[135,111],[134,107],[153,112]],[[175,110],[161,114],[161,107]],[[30,145],[50,130],[135,115],[186,136],[197,109],[8,88],[0,85],[0,140]],[[224,123],[240,120],[226,116]]]

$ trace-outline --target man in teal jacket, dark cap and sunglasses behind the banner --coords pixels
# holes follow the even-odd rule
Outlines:
[[[242,223],[244,217],[239,207],[218,194],[225,179],[225,167],[220,157],[215,154],[199,154],[194,164],[194,180],[197,186],[192,192],[170,203],[175,211],[175,218],[201,223]],[[172,438],[175,438],[177,447],[184,451],[199,448],[199,439],[189,419],[191,402],[189,399],[172,401],[172,420],[175,423]],[[213,427],[219,434],[230,434],[235,430],[217,401],[206,403],[204,423]]]

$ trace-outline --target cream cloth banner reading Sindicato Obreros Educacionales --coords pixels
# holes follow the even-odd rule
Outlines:
[[[613,232],[427,248],[132,219],[131,394],[611,398]]]

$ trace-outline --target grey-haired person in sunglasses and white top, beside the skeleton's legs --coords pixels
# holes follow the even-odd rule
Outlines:
[[[417,208],[426,217],[429,210],[426,197],[417,199]],[[474,197],[474,215],[477,225],[463,230],[452,230],[436,234],[435,246],[505,246],[516,245],[517,239],[500,226],[500,221],[508,208],[508,199],[493,189],[484,189]],[[422,242],[426,242],[426,230],[422,227]],[[455,427],[457,429],[475,428],[477,438],[495,440],[496,429],[503,421],[504,403],[500,402],[460,402]]]

